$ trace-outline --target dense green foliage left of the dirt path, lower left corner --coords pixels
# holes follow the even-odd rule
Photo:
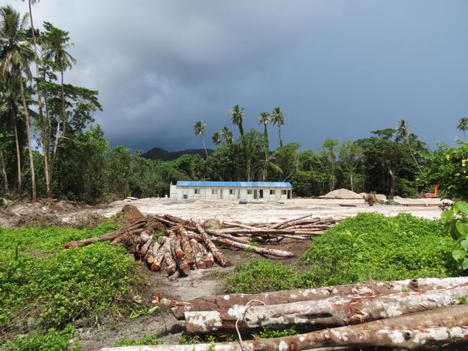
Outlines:
[[[124,301],[132,300],[130,285],[137,276],[135,262],[123,247],[94,243],[64,249],[68,241],[115,228],[103,223],[95,230],[0,229],[1,335],[11,340],[17,333],[30,332],[28,338],[15,341],[15,347],[39,350],[32,345],[44,343],[44,335],[69,340],[69,323],[94,324],[106,313],[128,309]],[[32,324],[28,318],[33,318]]]

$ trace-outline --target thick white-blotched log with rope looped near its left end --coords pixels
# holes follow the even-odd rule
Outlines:
[[[193,333],[291,325],[341,326],[390,318],[453,305],[454,296],[467,296],[468,284],[432,291],[410,291],[362,298],[332,297],[270,306],[233,306],[223,311],[185,312],[185,326]]]

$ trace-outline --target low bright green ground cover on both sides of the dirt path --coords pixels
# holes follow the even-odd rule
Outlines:
[[[128,322],[144,320],[148,311],[159,313],[145,305],[143,293],[139,296],[136,292],[142,278],[123,248],[94,243],[63,249],[69,241],[117,227],[107,221],[93,230],[0,229],[0,349],[80,350],[77,330],[83,326],[103,328],[106,316],[123,316]],[[453,276],[459,271],[452,250],[453,239],[444,233],[441,221],[409,214],[385,217],[363,213],[313,239],[297,266],[248,255],[249,262],[237,266],[227,279],[225,291],[258,293],[347,284],[369,277],[399,280]],[[281,331],[262,332],[276,335]],[[105,345],[157,344],[162,343],[160,337],[123,334]],[[193,335],[184,337],[187,340],[180,343],[211,342],[211,336],[203,340]]]

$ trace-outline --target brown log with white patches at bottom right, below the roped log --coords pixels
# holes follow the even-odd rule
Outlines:
[[[468,305],[442,307],[361,325],[351,325],[276,339],[254,339],[254,350],[315,350],[320,347],[427,348],[467,343]]]

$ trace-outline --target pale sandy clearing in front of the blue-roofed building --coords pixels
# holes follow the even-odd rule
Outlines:
[[[275,202],[249,202],[245,205],[239,200],[173,200],[170,198],[142,198],[137,200],[119,200],[105,205],[92,212],[103,216],[112,216],[119,212],[123,205],[132,204],[145,215],[171,214],[182,219],[205,220],[215,218],[220,221],[277,222],[299,216],[349,217],[359,212],[377,212],[385,216],[399,213],[410,213],[426,219],[439,219],[442,210],[438,207],[443,202],[440,198],[406,199],[397,198],[401,205],[369,206],[361,199],[334,198],[294,198]]]

